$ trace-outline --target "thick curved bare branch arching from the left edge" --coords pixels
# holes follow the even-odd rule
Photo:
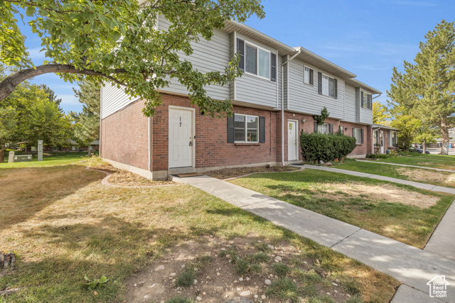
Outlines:
[[[28,68],[26,70],[21,70],[12,75],[6,77],[3,81],[0,82],[0,102],[8,97],[14,89],[21,84],[26,79],[30,79],[39,75],[44,75],[48,73],[63,72],[68,74],[80,74],[80,75],[89,75],[89,76],[101,76],[106,77],[114,83],[126,87],[127,85],[119,80],[115,79],[112,76],[105,75],[102,72],[95,72],[95,70],[77,70],[73,65],[63,65],[63,64],[48,64],[48,65],[38,65],[35,68]],[[119,68],[112,70],[111,74],[120,74],[127,72],[126,70]]]

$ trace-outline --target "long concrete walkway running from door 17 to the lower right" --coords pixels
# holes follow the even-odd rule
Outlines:
[[[310,168],[309,165],[305,165]],[[323,167],[327,168],[327,167]],[[330,170],[330,169],[329,169]],[[420,250],[328,216],[208,176],[175,178],[230,204],[310,238],[385,272],[404,285],[392,302],[455,302],[455,261]],[[451,241],[454,241],[451,239]],[[445,275],[450,283],[441,301],[429,297],[427,282]]]

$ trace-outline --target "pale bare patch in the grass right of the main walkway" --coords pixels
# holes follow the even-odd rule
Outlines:
[[[417,206],[421,209],[429,208],[430,206],[436,205],[439,201],[439,197],[429,197],[419,192],[410,192],[400,187],[396,187],[391,184],[378,185],[366,185],[361,183],[325,183],[319,186],[326,187],[324,193],[316,194],[316,197],[333,199],[335,201],[341,201],[346,199],[346,196],[341,195],[343,192],[350,197],[363,197],[370,199],[375,202],[390,202],[390,203],[401,203],[406,205]]]

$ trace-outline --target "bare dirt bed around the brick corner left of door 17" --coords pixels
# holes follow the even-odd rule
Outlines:
[[[102,164],[102,165],[96,165],[94,167],[90,167],[95,170],[102,170],[105,172],[110,172],[112,175],[109,177],[109,182],[110,184],[114,185],[122,185],[122,186],[159,186],[159,185],[171,185],[171,184],[177,184],[176,182],[172,182],[169,180],[164,180],[164,181],[153,181],[149,180],[147,178],[141,177],[137,174],[134,174],[132,172],[127,172],[126,170],[119,170],[116,167],[113,167],[112,165],[109,164]]]

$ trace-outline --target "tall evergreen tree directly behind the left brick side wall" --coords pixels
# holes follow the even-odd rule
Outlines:
[[[74,140],[79,145],[89,145],[100,138],[100,87],[92,82],[82,81],[79,89],[73,89],[82,106],[82,113],[74,113]]]

